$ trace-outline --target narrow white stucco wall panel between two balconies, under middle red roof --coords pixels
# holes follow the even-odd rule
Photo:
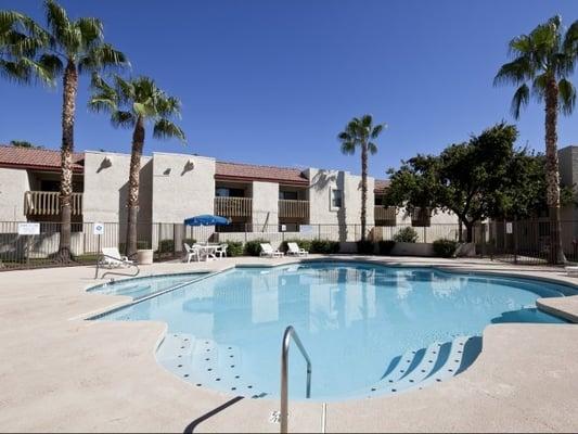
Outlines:
[[[279,230],[279,183],[253,181],[253,230]]]

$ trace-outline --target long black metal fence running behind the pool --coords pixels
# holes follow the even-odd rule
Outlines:
[[[0,222],[0,270],[54,267],[60,243],[60,222],[40,222],[39,234],[18,234],[17,221]],[[560,237],[568,260],[578,260],[578,221],[562,221]],[[397,239],[412,228],[414,241],[432,243],[439,239],[458,241],[466,231],[458,224],[432,224],[428,227],[408,225],[368,227],[368,240],[378,242]],[[73,224],[70,247],[73,261],[65,265],[89,265],[97,261],[102,247],[126,246],[126,224],[104,224],[98,235],[94,224]],[[545,265],[552,261],[555,227],[549,220],[491,221],[473,230],[475,254],[515,264]],[[189,227],[182,224],[141,222],[137,229],[138,248],[153,250],[155,260],[183,255],[183,244],[193,242],[240,242],[265,240],[274,247],[287,240],[329,240],[341,243],[341,252],[355,253],[361,239],[361,225],[243,225],[236,231],[219,231],[215,227]]]

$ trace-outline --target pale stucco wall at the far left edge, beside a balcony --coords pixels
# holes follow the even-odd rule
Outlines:
[[[26,170],[0,167],[0,221],[26,221],[24,192],[28,190]]]

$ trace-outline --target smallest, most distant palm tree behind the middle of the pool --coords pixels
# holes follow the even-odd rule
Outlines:
[[[365,240],[367,213],[368,213],[368,153],[377,152],[377,145],[372,141],[377,139],[385,128],[385,124],[373,125],[371,115],[361,118],[354,117],[339,132],[337,138],[342,143],[344,154],[355,154],[361,148],[361,240]]]

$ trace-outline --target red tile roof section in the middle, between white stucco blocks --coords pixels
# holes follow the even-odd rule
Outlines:
[[[215,178],[277,181],[290,184],[309,184],[300,169],[291,167],[258,166],[254,164],[217,162]]]

